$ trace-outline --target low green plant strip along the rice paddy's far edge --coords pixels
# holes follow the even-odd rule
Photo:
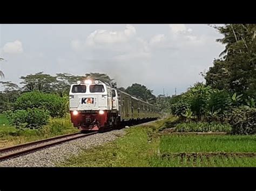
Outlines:
[[[177,132],[230,132],[230,124],[190,122],[176,125]]]

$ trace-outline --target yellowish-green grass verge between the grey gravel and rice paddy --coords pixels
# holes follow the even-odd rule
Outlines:
[[[104,146],[84,150],[78,157],[57,166],[84,167],[148,167],[149,158],[157,150],[157,140],[149,142],[147,128],[126,130],[126,136]]]

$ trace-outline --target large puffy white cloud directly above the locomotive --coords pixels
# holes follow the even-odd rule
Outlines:
[[[126,25],[124,31],[96,30],[86,39],[87,45],[125,43],[136,34],[132,25]]]

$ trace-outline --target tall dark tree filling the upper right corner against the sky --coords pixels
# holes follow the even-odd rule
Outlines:
[[[206,75],[207,84],[214,86],[219,83],[232,93],[256,96],[256,25],[227,24],[215,27],[224,38],[217,39],[225,44],[221,52],[223,60],[214,61],[214,66]],[[224,68],[225,70],[221,69]],[[222,79],[222,80],[221,80]]]

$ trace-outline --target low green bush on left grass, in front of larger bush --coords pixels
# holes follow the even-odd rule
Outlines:
[[[37,129],[49,121],[50,115],[48,110],[28,108],[27,110],[8,111],[6,117],[16,128]]]

